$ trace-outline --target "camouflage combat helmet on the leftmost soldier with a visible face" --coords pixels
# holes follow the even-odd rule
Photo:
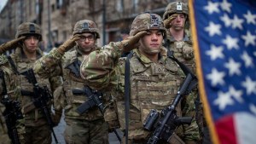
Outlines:
[[[32,22],[24,22],[18,26],[17,32],[15,34],[15,38],[19,38],[21,36],[26,35],[38,35],[39,41],[42,41],[42,33],[41,28]]]

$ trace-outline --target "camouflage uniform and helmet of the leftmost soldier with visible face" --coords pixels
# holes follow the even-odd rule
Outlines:
[[[34,35],[38,36],[39,41],[42,40],[41,32],[39,26],[33,23],[23,23],[18,27],[16,32],[16,38],[21,36]],[[24,114],[24,119],[19,121],[17,126],[18,133],[20,136],[21,143],[42,143],[42,144],[50,144],[51,143],[51,131],[49,130],[49,125],[47,124],[46,118],[44,118],[44,112],[41,111],[40,108],[36,108],[33,104],[32,94],[33,86],[28,82],[25,76],[21,74],[16,74],[17,72],[24,72],[29,68],[32,68],[36,60],[29,60],[24,54],[23,49],[25,48],[25,44],[23,42],[19,43],[19,47],[15,49],[15,53],[10,55],[11,60],[13,60],[14,65],[12,66],[12,62],[8,62],[4,64],[4,66],[11,68],[12,77],[11,81],[11,89],[15,89],[14,98],[18,99],[21,102],[22,112]],[[37,59],[39,59],[43,55],[43,52],[37,48]],[[35,74],[38,84],[40,87],[46,86],[49,89],[50,94],[53,95],[55,89],[61,87],[62,80],[61,77],[51,77],[49,79],[39,78],[37,74]],[[26,91],[27,94],[21,95],[21,91]],[[55,95],[54,95],[55,96]],[[51,108],[52,101],[49,101],[49,110]],[[55,109],[55,113],[61,110]],[[53,115],[54,116],[54,115]],[[58,116],[59,117],[59,116]],[[58,123],[58,120],[53,118],[55,123]]]

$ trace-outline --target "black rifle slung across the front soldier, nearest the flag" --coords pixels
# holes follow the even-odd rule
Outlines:
[[[193,73],[188,73],[183,81],[182,86],[177,91],[175,99],[172,101],[171,106],[166,107],[161,113],[156,110],[151,110],[148,117],[143,124],[145,130],[154,130],[153,134],[148,139],[148,144],[162,143],[163,141],[170,141],[174,131],[181,124],[191,124],[191,117],[177,117],[175,108],[178,102],[183,98],[184,95],[195,88],[197,84],[197,78]],[[160,117],[160,118],[159,118]]]

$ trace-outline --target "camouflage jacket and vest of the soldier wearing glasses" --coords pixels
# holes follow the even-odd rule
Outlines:
[[[66,97],[61,100],[61,107],[65,108],[66,118],[95,120],[103,118],[102,113],[97,107],[91,108],[88,112],[79,115],[76,109],[85,101],[88,101],[86,95],[73,95],[74,88],[84,89],[84,80],[80,77],[80,63],[84,60],[82,53],[79,51],[78,46],[73,50],[68,51],[65,55],[60,55],[56,49],[49,52],[40,60],[38,60],[35,71],[44,78],[49,75],[61,74],[63,77],[63,88]],[[61,67],[61,73],[55,72],[56,67]]]

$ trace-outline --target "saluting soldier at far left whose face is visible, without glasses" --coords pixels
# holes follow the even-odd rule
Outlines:
[[[41,29],[38,25],[25,22],[18,26],[15,39],[6,43],[2,47],[4,49],[15,49],[15,53],[8,57],[3,56],[2,68],[11,68],[9,72],[10,88],[9,91],[15,91],[12,99],[17,99],[21,103],[24,119],[19,121],[17,126],[20,137],[20,143],[51,143],[51,131],[49,129],[47,118],[40,107],[33,103],[35,91],[33,84],[28,78],[20,74],[29,68],[32,68],[35,61],[42,55],[42,51],[38,48],[38,43],[42,41]],[[49,89],[49,94],[58,96],[60,93],[53,93],[56,89],[61,89],[61,77],[50,77],[48,79],[35,76],[38,85]],[[18,91],[18,92],[16,92]],[[51,107],[51,100],[48,101],[48,108]],[[52,114],[52,120],[58,124],[61,118],[61,109],[55,108],[55,115]]]

